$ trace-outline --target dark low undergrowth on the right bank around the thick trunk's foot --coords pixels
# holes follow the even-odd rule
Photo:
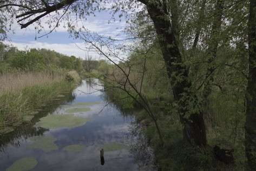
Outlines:
[[[208,123],[209,120],[206,119],[208,146],[204,149],[191,146],[191,144],[183,141],[182,125],[179,121],[179,115],[175,113],[173,106],[170,105],[172,99],[168,99],[168,96],[161,96],[159,98],[147,96],[147,100],[150,103],[150,108],[155,113],[157,122],[159,123],[160,130],[163,135],[164,144],[162,145],[159,140],[159,135],[157,134],[154,121],[149,117],[147,112],[143,110],[140,104],[134,101],[133,98],[130,98],[126,92],[113,87],[114,86],[111,83],[105,83],[106,94],[109,97],[108,101],[114,103],[117,108],[124,111],[124,113],[128,111],[129,114],[133,114],[135,116],[135,120],[137,124],[139,124],[142,134],[147,137],[147,143],[149,144],[148,146],[150,146],[154,151],[157,167],[161,170],[245,169],[245,154],[243,152],[244,149],[242,148],[243,144],[241,141],[243,134],[237,135],[237,141],[235,144],[240,148],[234,149],[234,163],[226,165],[224,162],[217,161],[214,155],[213,147],[215,145],[221,146],[222,148],[228,148],[228,146],[224,145],[231,144],[228,142],[229,139],[225,139],[225,136],[219,136],[220,132],[225,132],[227,135],[229,134],[229,136],[232,133],[232,131],[227,129],[229,127],[227,123],[226,130],[224,130],[218,125],[215,127],[210,125]],[[222,99],[219,98],[219,100]],[[227,104],[227,102],[223,103],[223,105],[224,104]],[[218,109],[221,110],[224,108],[221,108],[221,105],[219,105]],[[222,117],[224,118],[227,116]],[[218,119],[220,119],[220,116]],[[224,121],[226,120],[227,119]],[[237,128],[238,131],[239,129],[240,128]],[[232,139],[229,141],[232,141]]]

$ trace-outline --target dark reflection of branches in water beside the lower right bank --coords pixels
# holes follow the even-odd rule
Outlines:
[[[153,168],[156,168],[153,150],[150,148],[148,139],[143,133],[140,124],[132,122],[129,130],[133,137],[130,152],[134,155],[135,161],[140,167],[153,166]]]

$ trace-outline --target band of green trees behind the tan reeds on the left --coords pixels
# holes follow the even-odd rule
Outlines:
[[[105,61],[93,60],[88,56],[85,60],[75,56],[67,56],[49,49],[18,50],[16,47],[0,43],[0,73],[11,71],[41,70],[76,70],[91,72],[100,68],[104,70]],[[106,68],[106,67],[105,67]]]

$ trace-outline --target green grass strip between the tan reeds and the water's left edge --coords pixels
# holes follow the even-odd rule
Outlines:
[[[52,103],[55,98],[74,89],[74,84],[66,81],[25,87],[17,91],[6,91],[0,96],[0,134],[8,133],[23,122],[29,122],[34,111]],[[5,131],[1,131],[5,130]],[[8,131],[9,130],[9,131]]]

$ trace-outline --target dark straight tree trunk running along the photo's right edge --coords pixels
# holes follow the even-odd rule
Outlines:
[[[245,146],[249,170],[256,170],[256,0],[250,1],[248,31],[249,79],[246,95]]]

